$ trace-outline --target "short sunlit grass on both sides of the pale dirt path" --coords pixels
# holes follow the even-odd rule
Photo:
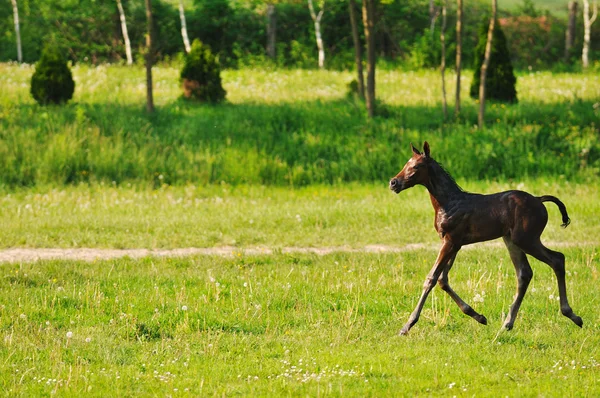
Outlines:
[[[491,192],[502,183],[465,188]],[[0,386],[9,396],[595,396],[600,390],[597,185],[513,187],[548,206],[543,239],[567,256],[579,329],[556,281],[534,280],[515,329],[500,333],[515,289],[501,247],[463,250],[455,290],[484,327],[435,289],[399,337],[435,249],[396,254],[247,256],[244,247],[403,246],[437,242],[428,195],[383,186],[79,186],[4,192],[4,247],[235,245],[233,257],[0,264]],[[552,244],[550,244],[552,246]],[[556,248],[556,247],[555,247]]]

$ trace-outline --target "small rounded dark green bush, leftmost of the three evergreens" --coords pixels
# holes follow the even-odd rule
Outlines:
[[[46,47],[31,77],[31,95],[41,105],[61,104],[73,98],[75,82],[66,59],[55,47]]]

